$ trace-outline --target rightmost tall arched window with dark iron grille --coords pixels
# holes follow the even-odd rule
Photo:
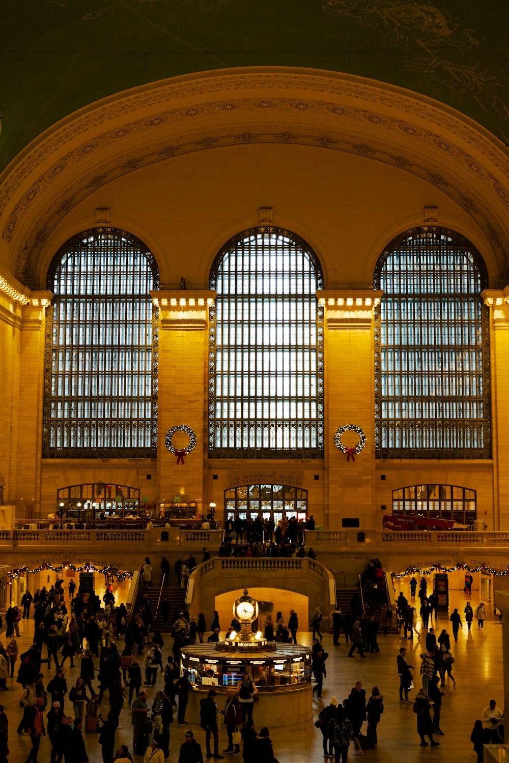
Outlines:
[[[408,230],[375,269],[375,454],[489,459],[488,275],[469,241]]]

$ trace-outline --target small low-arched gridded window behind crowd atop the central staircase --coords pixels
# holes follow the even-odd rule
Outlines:
[[[224,491],[224,516],[232,520],[305,520],[308,491],[293,485],[242,485]]]

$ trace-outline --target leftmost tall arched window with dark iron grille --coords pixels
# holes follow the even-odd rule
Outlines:
[[[124,230],[85,230],[56,253],[43,457],[156,456],[158,287],[153,255]]]

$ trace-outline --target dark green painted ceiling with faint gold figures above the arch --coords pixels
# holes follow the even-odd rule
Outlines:
[[[1,0],[0,166],[98,98],[232,66],[400,85],[509,143],[508,41],[507,0]]]

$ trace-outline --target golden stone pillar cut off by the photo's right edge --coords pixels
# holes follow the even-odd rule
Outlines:
[[[509,423],[509,286],[486,289],[482,298],[490,307],[491,353],[491,456],[493,458],[493,522],[489,530],[509,527],[509,452],[506,424]],[[509,725],[508,725],[509,727]]]

